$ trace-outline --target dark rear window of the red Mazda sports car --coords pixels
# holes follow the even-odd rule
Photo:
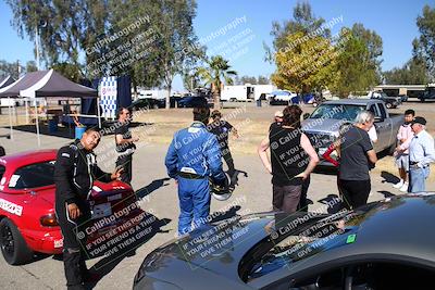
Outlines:
[[[54,185],[55,161],[35,163],[16,169],[9,180],[9,188],[25,189]]]

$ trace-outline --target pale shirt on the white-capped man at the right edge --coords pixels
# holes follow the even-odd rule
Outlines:
[[[435,162],[434,138],[427,131],[422,130],[412,138],[409,146],[409,160],[418,162],[419,167],[425,167]]]

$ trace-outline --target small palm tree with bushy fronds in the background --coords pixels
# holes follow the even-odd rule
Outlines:
[[[221,89],[222,79],[225,84],[232,85],[233,79],[231,76],[237,75],[235,71],[229,70],[228,61],[221,55],[212,56],[211,60],[206,61],[208,67],[199,67],[198,74],[206,81],[206,85],[211,85],[211,92],[213,94],[213,106],[220,109],[221,106]]]

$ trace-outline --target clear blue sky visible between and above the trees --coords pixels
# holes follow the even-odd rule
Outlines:
[[[427,0],[312,0],[309,1],[316,16],[326,21],[343,16],[333,31],[353,23],[375,30],[383,39],[383,70],[401,66],[412,52],[412,39],[419,35],[415,18],[424,4],[434,5]],[[227,50],[232,66],[241,75],[270,75],[274,65],[265,63],[263,41],[272,43],[270,36],[272,21],[288,20],[297,1],[290,0],[199,0],[197,17],[194,22],[199,38],[211,36],[237,17],[246,16],[246,23],[239,23],[225,35],[216,36],[207,42],[209,50]],[[0,0],[0,60],[9,62],[34,60],[34,45],[28,38],[21,39],[11,27],[12,12]],[[245,31],[245,34],[243,34]],[[233,45],[225,41],[235,37]],[[239,38],[237,38],[239,37]],[[236,39],[237,38],[237,39]],[[245,43],[244,43],[245,41]],[[220,48],[221,47],[221,48]],[[182,81],[175,79],[174,88],[181,89]]]

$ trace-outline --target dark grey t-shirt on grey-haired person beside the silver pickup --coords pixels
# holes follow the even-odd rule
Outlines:
[[[366,152],[372,149],[369,134],[351,126],[341,138],[339,178],[343,180],[369,180],[370,161]]]

